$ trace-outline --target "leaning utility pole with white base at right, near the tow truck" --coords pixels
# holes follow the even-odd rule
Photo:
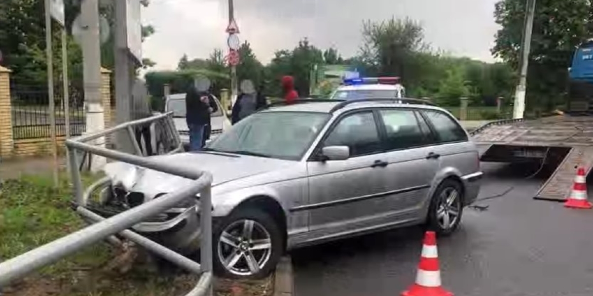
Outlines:
[[[523,118],[525,112],[525,92],[527,91],[527,67],[529,65],[529,53],[531,47],[531,32],[533,31],[533,18],[535,15],[535,0],[526,0],[524,32],[521,45],[521,59],[519,72],[519,84],[515,89],[515,104],[513,118]]]

